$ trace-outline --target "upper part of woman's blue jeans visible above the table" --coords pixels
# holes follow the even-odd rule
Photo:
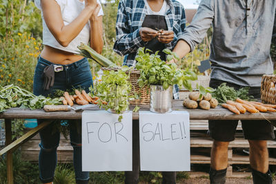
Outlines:
[[[92,83],[92,74],[88,60],[83,58],[69,65],[61,65],[63,71],[55,72],[55,83],[49,90],[43,90],[43,70],[51,65],[50,61],[39,57],[37,67],[34,71],[34,94],[48,96],[54,94],[56,90],[68,91],[73,88],[82,88],[89,91]]]

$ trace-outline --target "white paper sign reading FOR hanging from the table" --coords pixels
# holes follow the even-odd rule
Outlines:
[[[132,111],[118,114],[105,110],[82,113],[82,170],[132,170]]]

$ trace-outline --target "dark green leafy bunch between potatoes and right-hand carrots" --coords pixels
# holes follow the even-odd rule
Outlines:
[[[221,83],[217,89],[212,92],[213,98],[217,99],[219,104],[226,103],[226,101],[235,101],[237,98],[246,101],[252,100],[254,97],[248,95],[248,87],[235,90],[233,87],[229,87],[226,83]]]

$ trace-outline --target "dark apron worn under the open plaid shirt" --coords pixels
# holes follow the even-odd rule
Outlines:
[[[166,19],[164,15],[157,15],[157,14],[147,14],[144,22],[142,23],[142,27],[152,28],[152,30],[168,30],[168,26],[166,23]],[[157,37],[152,39],[146,43],[145,48],[148,48],[153,53],[159,51],[160,59],[166,61],[166,54],[162,52],[164,50],[165,44],[158,41]]]

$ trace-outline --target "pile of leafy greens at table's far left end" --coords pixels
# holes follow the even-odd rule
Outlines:
[[[0,112],[8,108],[30,108],[31,110],[43,108],[44,105],[59,105],[61,99],[51,99],[45,96],[35,96],[17,85],[0,85]]]

